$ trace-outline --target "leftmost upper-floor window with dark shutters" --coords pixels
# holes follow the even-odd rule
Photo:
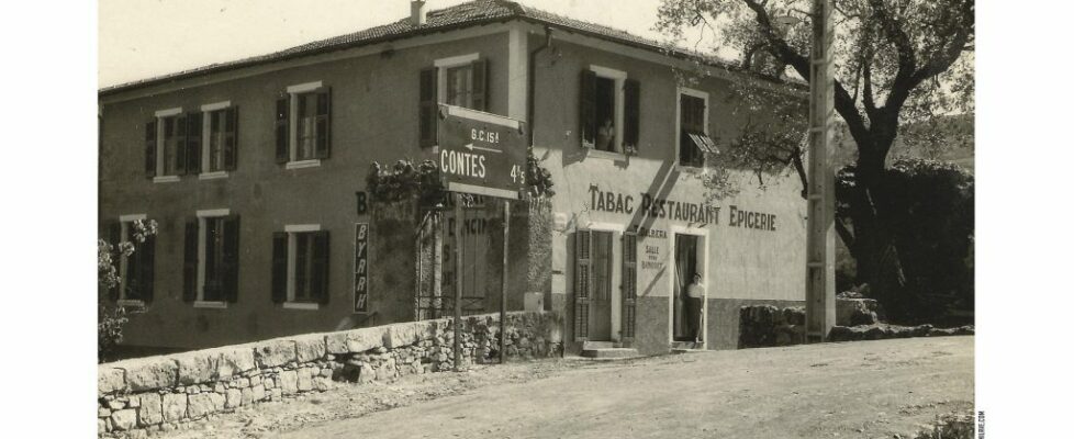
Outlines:
[[[145,173],[155,182],[179,181],[201,170],[201,113],[156,112],[145,127]]]

